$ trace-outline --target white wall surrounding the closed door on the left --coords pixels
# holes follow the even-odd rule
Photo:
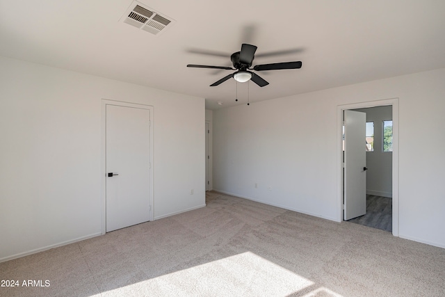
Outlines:
[[[100,234],[101,99],[154,106],[154,218],[205,205],[203,98],[0,58],[0,261]]]

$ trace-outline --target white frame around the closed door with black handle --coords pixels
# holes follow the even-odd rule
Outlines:
[[[104,235],[106,233],[106,106],[107,105],[115,105],[115,106],[123,106],[123,107],[133,107],[136,109],[147,109],[150,114],[150,193],[149,193],[149,220],[153,220],[153,106],[131,103],[131,102],[122,102],[117,100],[109,100],[102,99],[101,100],[101,108],[102,108],[102,131],[101,131],[101,233]]]

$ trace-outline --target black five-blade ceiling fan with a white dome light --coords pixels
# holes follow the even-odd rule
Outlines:
[[[195,65],[195,64],[188,64],[187,67],[237,70],[236,72],[229,74],[226,77],[223,77],[219,81],[212,83],[210,85],[211,87],[218,86],[220,85],[220,83],[223,83],[227,81],[227,79],[230,79],[232,77],[240,83],[251,80],[254,83],[257,83],[258,86],[264,87],[267,86],[269,83],[265,81],[263,78],[261,78],[258,74],[255,74],[254,72],[251,72],[249,70],[266,71],[266,70],[301,68],[302,65],[301,61],[255,65],[253,68],[251,68],[255,51],[257,51],[256,46],[243,43],[243,45],[241,45],[241,51],[236,51],[236,53],[230,56],[230,60],[232,60],[232,64],[234,65],[233,68],[225,66],[209,66],[209,65]]]

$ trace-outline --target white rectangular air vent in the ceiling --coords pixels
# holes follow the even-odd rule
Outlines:
[[[143,6],[138,1],[131,3],[131,6],[121,17],[120,21],[154,35],[159,35],[159,33],[165,31],[166,28],[172,26],[175,22],[174,19],[166,17],[152,8]]]

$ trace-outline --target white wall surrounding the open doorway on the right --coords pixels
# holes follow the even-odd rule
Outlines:
[[[213,188],[339,221],[337,106],[398,97],[399,236],[445,248],[444,81],[440,69],[214,111]]]

